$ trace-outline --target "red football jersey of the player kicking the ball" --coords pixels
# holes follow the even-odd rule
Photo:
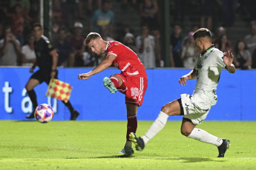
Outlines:
[[[118,41],[109,41],[107,44],[107,55],[115,55],[114,67],[121,70],[122,75],[147,78],[145,67],[138,55]]]

